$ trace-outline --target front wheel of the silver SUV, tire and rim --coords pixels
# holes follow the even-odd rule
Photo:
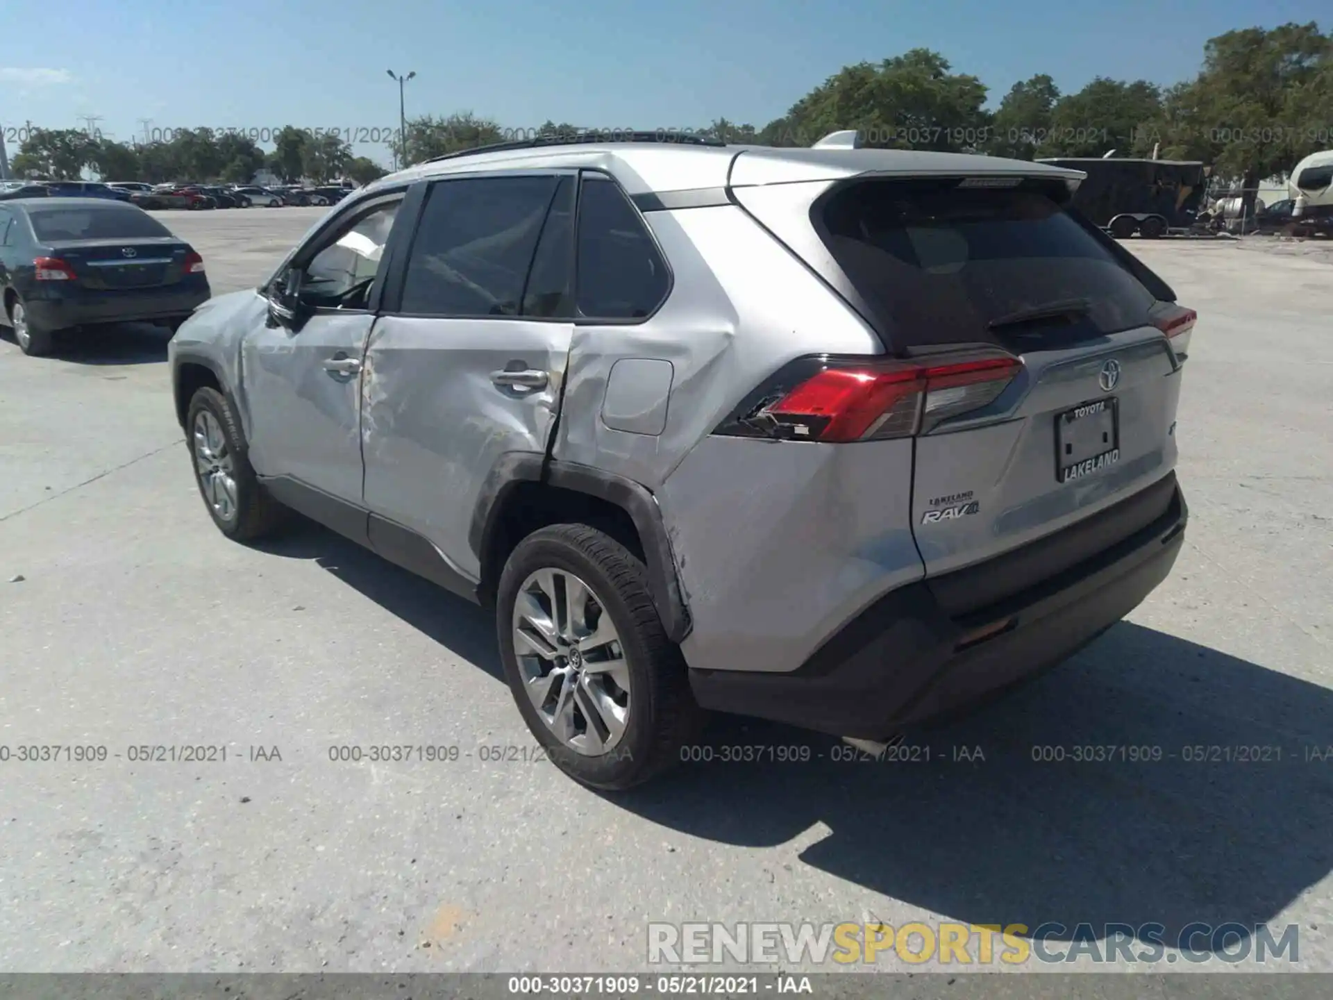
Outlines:
[[[283,527],[287,508],[255,475],[240,421],[217,389],[205,387],[191,397],[185,447],[195,465],[199,495],[223,535],[233,541],[253,541]]]

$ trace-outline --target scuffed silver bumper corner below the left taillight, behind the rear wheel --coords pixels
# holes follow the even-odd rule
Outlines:
[[[661,492],[694,625],[685,660],[800,667],[877,597],[925,575],[910,504],[910,440],[701,441]]]

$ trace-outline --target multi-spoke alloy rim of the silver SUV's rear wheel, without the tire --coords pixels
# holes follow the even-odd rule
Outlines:
[[[519,588],[513,649],[524,691],[547,728],[585,756],[615,748],[629,723],[629,664],[596,592],[564,569]]]

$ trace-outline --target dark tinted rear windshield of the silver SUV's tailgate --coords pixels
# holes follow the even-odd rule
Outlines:
[[[834,193],[822,223],[829,252],[902,347],[1053,348],[1144,325],[1156,303],[1040,191],[866,181]],[[992,325],[1058,304],[1073,308]]]

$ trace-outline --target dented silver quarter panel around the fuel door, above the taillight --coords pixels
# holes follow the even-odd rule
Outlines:
[[[740,399],[790,359],[882,348],[740,208],[648,212],[644,219],[672,269],[670,295],[645,321],[575,328],[555,457],[656,492]],[[603,423],[607,380],[621,359],[670,363],[661,435]]]

